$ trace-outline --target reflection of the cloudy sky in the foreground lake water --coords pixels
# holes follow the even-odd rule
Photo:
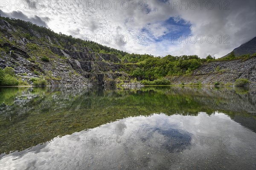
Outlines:
[[[224,113],[121,119],[1,155],[3,169],[255,169],[255,133]]]

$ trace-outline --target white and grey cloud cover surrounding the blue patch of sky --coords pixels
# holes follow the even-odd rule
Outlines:
[[[17,1],[17,3],[21,1]],[[32,5],[35,5],[35,2]],[[189,6],[190,1],[183,1],[183,3],[187,2],[188,4],[187,10],[185,6],[181,6],[182,9],[180,10],[181,1],[166,3],[157,0],[143,1],[143,3],[137,1],[136,6],[134,1],[125,0],[124,2],[122,0],[116,3],[116,6],[113,1],[109,1],[112,5],[110,9],[107,9],[109,4],[105,1],[61,0],[58,3],[51,4],[50,9],[49,1],[41,2],[44,4],[44,8],[41,10],[35,7],[29,9],[27,6],[27,8],[20,11],[28,18],[40,17],[41,23],[45,22],[55,32],[71,34],[82,39],[86,39],[87,35],[96,35],[98,38],[100,38],[100,35],[102,37],[106,35],[111,37],[113,35],[119,35],[119,37],[127,35],[129,41],[126,44],[122,43],[120,38],[117,38],[115,43],[114,37],[110,44],[104,44],[104,41],[102,43],[131,53],[147,53],[156,56],[197,54],[199,57],[206,57],[211,54],[215,57],[221,57],[256,36],[256,4],[255,1],[251,0],[228,1],[230,4],[225,3],[227,1],[221,1],[221,9],[218,4],[219,1],[210,1],[214,2],[212,10],[206,7],[208,1],[204,1],[202,9],[200,9],[200,3],[197,3],[195,10],[189,8],[194,7],[193,4]],[[96,6],[96,9],[94,6],[90,6],[91,4],[95,5],[95,2],[97,4],[102,3],[102,9],[100,9],[100,6]],[[127,2],[129,7],[124,9]],[[178,6],[175,6],[175,2],[178,3]],[[14,8],[10,10],[9,6],[2,7],[6,14],[17,11]],[[59,9],[53,9],[53,7]],[[211,7],[211,3],[208,4],[209,7]],[[224,7],[230,9],[224,10]],[[139,8],[144,8],[144,10]],[[192,35],[197,37],[198,35],[205,35],[205,37],[212,35],[214,42],[207,43],[205,37],[202,43],[198,39],[195,44],[185,43],[185,41],[182,44],[179,41],[172,43],[171,40],[156,42],[154,39],[179,29],[177,26],[163,24],[170,17],[174,17],[175,21],[184,20],[191,23]],[[46,20],[46,18],[49,18],[49,20]],[[143,28],[148,31],[143,32]],[[138,44],[138,40],[134,43],[135,35],[136,38],[140,35],[144,36],[144,45]],[[220,35],[221,43],[219,42]],[[224,38],[225,35],[230,38],[228,40],[229,44],[223,43],[224,40],[227,40],[227,37]],[[142,40],[141,38],[142,36],[140,36],[140,40]]]

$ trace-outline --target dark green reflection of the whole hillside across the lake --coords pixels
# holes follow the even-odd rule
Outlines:
[[[2,152],[21,150],[117,119],[153,113],[197,116],[198,112],[211,115],[221,111],[251,129],[250,120],[255,122],[248,114],[255,113],[256,107],[252,88],[1,88],[0,94],[1,102],[5,102],[0,106]]]

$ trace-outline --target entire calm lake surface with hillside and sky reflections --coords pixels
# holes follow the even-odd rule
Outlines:
[[[256,168],[256,88],[0,88],[5,169]]]

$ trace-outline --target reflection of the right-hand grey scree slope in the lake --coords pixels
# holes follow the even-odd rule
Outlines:
[[[256,113],[256,88],[173,88],[172,94],[190,96],[208,108],[233,112]]]

